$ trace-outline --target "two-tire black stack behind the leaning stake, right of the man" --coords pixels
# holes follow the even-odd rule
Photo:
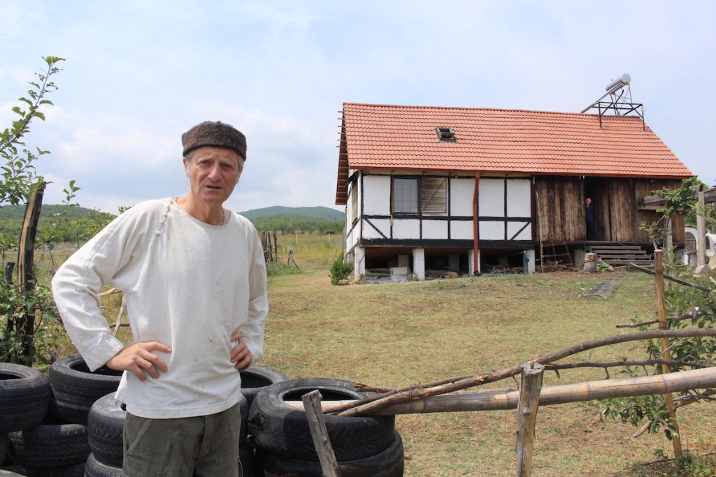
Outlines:
[[[286,380],[254,398],[248,432],[256,446],[258,475],[321,477],[321,464],[304,410],[289,405],[319,390],[324,400],[360,399],[355,383],[329,378]],[[325,415],[326,431],[342,475],[402,476],[404,451],[394,416]]]

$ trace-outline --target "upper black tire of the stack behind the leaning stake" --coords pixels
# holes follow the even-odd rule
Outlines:
[[[301,402],[301,395],[319,390],[326,400],[359,399],[350,381],[329,378],[286,380],[256,395],[248,411],[248,431],[256,448],[279,456],[318,461],[304,410],[296,410],[286,400]],[[325,415],[326,430],[336,458],[353,461],[373,456],[390,446],[395,432],[395,416],[345,417]]]

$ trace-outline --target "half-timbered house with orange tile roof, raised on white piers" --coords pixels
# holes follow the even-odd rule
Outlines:
[[[338,162],[356,277],[533,271],[555,248],[648,246],[639,225],[658,215],[639,199],[692,176],[639,117],[513,109],[344,103]]]

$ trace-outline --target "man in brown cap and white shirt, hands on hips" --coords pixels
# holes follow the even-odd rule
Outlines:
[[[237,476],[241,376],[263,355],[263,249],[223,208],[246,138],[221,122],[182,135],[190,190],[142,202],[69,257],[52,280],[67,333],[90,370],[124,370],[124,475]],[[125,292],[134,343],[100,315],[100,288]]]

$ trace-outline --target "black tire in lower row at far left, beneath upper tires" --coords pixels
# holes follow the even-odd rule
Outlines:
[[[10,456],[24,467],[71,466],[89,456],[87,426],[82,424],[40,424],[8,437]]]

